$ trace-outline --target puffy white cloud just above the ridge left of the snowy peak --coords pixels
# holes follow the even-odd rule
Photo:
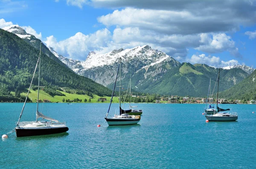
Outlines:
[[[48,47],[52,47],[59,54],[73,59],[84,60],[90,51],[97,51],[102,46],[107,46],[110,39],[111,32],[105,28],[90,35],[78,32],[73,37],[60,42],[57,42],[54,36],[49,36],[44,43]]]

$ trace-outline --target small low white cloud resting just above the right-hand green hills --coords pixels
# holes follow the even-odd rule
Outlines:
[[[239,62],[237,60],[229,60],[227,62],[221,60],[219,57],[216,56],[206,56],[205,54],[199,54],[199,55],[192,55],[190,59],[187,59],[187,62],[190,62],[192,64],[195,63],[201,63],[206,64],[214,67],[226,67],[226,66],[233,66],[238,65]]]

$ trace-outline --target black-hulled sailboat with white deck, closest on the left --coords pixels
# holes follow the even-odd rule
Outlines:
[[[21,115],[23,113],[24,107],[26,105],[27,98],[29,96],[29,91],[27,93],[25,102],[23,104],[23,108],[20,113],[19,120],[17,121],[15,131],[17,137],[24,137],[24,136],[35,136],[35,135],[50,135],[50,134],[57,134],[62,132],[67,132],[68,127],[66,126],[65,122],[59,122],[53,118],[47,117],[44,114],[38,111],[38,102],[39,102],[39,87],[40,87],[40,58],[41,58],[41,46],[40,45],[40,55],[38,57],[38,62],[35,66],[35,71],[32,77],[32,81],[29,86],[29,91],[32,86],[32,82],[35,76],[35,72],[38,66],[38,95],[37,95],[37,107],[36,107],[36,121],[20,121]]]

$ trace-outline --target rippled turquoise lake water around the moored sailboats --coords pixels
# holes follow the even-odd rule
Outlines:
[[[111,112],[118,110],[119,104],[112,105]],[[69,131],[10,134],[0,140],[0,168],[256,168],[256,105],[223,104],[238,113],[238,120],[209,123],[204,104],[137,105],[143,109],[138,124],[110,127],[104,119],[108,104],[42,104],[42,113],[66,121]],[[1,135],[14,129],[22,106],[0,103]],[[26,104],[21,121],[35,120],[35,109],[36,104]]]

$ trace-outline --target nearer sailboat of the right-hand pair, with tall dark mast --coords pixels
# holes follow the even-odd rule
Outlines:
[[[218,71],[218,87],[219,87],[219,79],[220,79],[220,68]],[[221,109],[218,107],[218,87],[217,87],[217,102],[216,102],[216,111],[213,111],[213,114],[207,114],[206,112],[206,119],[209,121],[236,121],[238,119],[237,113],[228,113],[225,111],[229,111],[230,109]],[[218,113],[224,112],[224,113]]]

